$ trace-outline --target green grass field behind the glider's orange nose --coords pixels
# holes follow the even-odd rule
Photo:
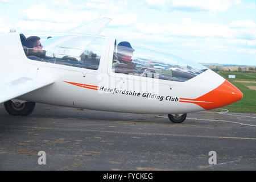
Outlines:
[[[222,72],[218,74],[235,85],[243,93],[242,100],[221,108],[236,113],[256,113],[256,90],[246,87],[256,86],[256,83],[253,83],[256,82],[256,73]],[[228,78],[229,75],[236,75],[236,78]],[[236,81],[250,81],[250,83]]]

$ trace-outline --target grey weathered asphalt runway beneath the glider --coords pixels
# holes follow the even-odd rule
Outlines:
[[[14,117],[1,104],[0,170],[255,170],[256,114],[228,114],[236,116],[203,111],[172,123],[167,115],[36,104]]]

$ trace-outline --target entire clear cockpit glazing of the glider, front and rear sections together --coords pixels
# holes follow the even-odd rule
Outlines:
[[[51,35],[39,34],[42,45],[38,46],[43,49],[35,51],[27,46],[28,38],[20,34],[28,59],[97,70],[102,53],[108,49],[104,47],[108,38],[102,36],[67,33]],[[208,69],[171,53],[118,39],[114,41],[113,49],[113,59],[109,60],[112,64],[108,65],[112,65],[115,74],[184,82]]]

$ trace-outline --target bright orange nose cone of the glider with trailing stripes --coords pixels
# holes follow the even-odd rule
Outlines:
[[[220,86],[211,92],[195,99],[180,98],[180,102],[197,104],[205,110],[215,109],[239,101],[243,93],[229,81],[225,80]]]

